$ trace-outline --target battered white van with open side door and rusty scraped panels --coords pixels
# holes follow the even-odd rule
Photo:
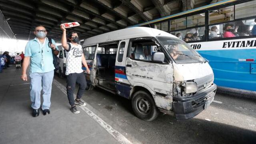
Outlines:
[[[85,39],[83,50],[88,84],[131,99],[142,120],[154,120],[159,112],[193,118],[214,100],[208,62],[167,32],[125,28]]]

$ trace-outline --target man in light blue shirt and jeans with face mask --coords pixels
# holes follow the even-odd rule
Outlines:
[[[22,80],[28,80],[26,70],[30,64],[30,100],[32,102],[31,108],[33,108],[32,116],[39,116],[39,108],[41,105],[40,94],[43,89],[42,104],[43,114],[50,114],[50,97],[52,92],[52,80],[54,76],[54,65],[52,50],[55,55],[58,55],[59,51],[56,49],[56,43],[52,40],[52,44],[49,46],[49,40],[46,37],[47,31],[44,26],[37,26],[34,30],[36,38],[28,41],[25,48],[25,57],[22,67]]]

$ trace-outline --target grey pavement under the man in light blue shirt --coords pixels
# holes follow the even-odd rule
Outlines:
[[[54,84],[50,115],[40,110],[32,117],[30,80],[24,82],[20,75],[14,66],[0,73],[0,144],[118,144],[81,108],[73,114],[67,96]]]

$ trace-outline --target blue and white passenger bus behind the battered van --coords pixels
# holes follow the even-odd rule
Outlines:
[[[222,0],[135,26],[190,44],[209,60],[218,86],[256,91],[256,0]]]

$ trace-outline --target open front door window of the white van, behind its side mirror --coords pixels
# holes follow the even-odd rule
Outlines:
[[[152,61],[154,47],[156,44],[153,40],[133,40],[130,44],[129,57],[134,60]]]

